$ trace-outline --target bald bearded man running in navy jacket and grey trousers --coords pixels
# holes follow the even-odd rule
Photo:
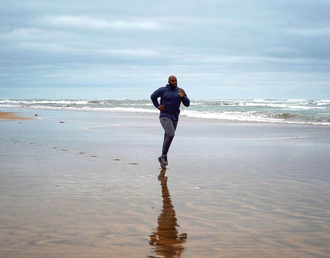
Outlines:
[[[160,105],[157,98],[160,97]],[[190,100],[182,88],[178,88],[177,78],[172,75],[168,78],[168,84],[155,90],[150,96],[153,105],[160,110],[159,120],[165,130],[162,155],[158,158],[160,167],[166,169],[168,165],[167,152],[177,129],[180,105],[189,107]]]

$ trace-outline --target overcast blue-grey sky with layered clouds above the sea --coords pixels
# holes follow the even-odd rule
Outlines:
[[[330,98],[329,0],[85,2],[0,0],[0,99]]]

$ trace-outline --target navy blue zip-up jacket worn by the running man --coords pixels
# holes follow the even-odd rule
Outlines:
[[[184,106],[189,107],[190,100],[188,99],[187,94],[184,92],[183,97],[180,97],[179,89],[178,86],[172,88],[170,85],[166,84],[165,87],[160,87],[151,94],[151,101],[156,108],[159,107],[157,100],[159,97],[160,105],[165,105],[165,110],[160,111],[159,117],[167,116],[173,121],[178,121],[181,102]]]

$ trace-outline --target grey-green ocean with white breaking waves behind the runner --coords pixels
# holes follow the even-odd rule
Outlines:
[[[0,107],[158,113],[149,99],[1,99]],[[181,115],[249,122],[330,125],[330,100],[190,99]]]

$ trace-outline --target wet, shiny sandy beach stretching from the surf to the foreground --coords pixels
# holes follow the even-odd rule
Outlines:
[[[1,257],[329,257],[329,126],[181,116],[164,171],[156,113],[34,113],[0,112]]]

